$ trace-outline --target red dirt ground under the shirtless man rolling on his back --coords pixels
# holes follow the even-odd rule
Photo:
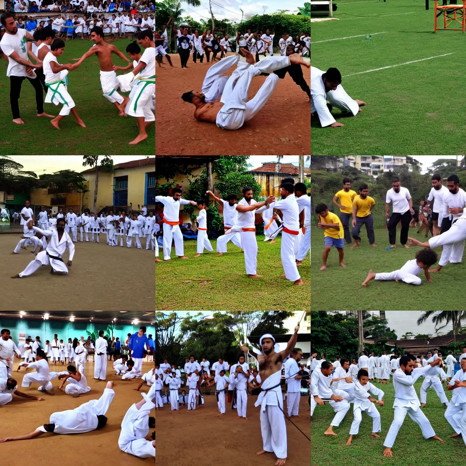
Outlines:
[[[230,54],[229,54],[230,55]],[[264,108],[239,130],[222,130],[194,118],[194,105],[181,100],[190,90],[201,90],[207,64],[188,60],[182,69],[179,55],[170,54],[176,68],[164,59],[156,66],[156,155],[309,155],[311,146],[308,96],[290,76],[280,79]],[[234,69],[234,67],[233,67]],[[231,75],[233,69],[226,74]],[[302,66],[310,85],[310,69]],[[265,80],[257,76],[249,88],[252,98]],[[218,99],[219,100],[219,99]]]

